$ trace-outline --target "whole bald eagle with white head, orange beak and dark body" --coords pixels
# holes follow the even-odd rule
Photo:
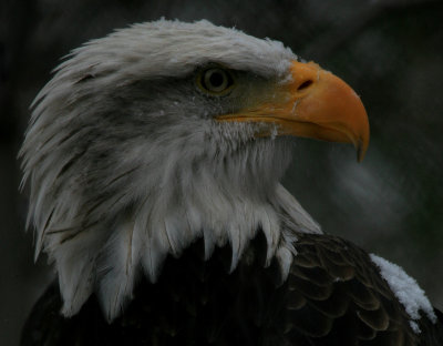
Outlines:
[[[22,345],[443,345],[400,267],[279,183],[291,138],[369,143],[352,89],[208,21],[87,42],[33,103],[28,224],[56,282]]]

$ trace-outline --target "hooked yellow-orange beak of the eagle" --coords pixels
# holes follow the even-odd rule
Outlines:
[[[291,80],[279,86],[277,98],[217,120],[271,123],[277,125],[278,134],[352,143],[358,160],[363,160],[369,122],[357,93],[312,62],[293,61],[290,73]]]

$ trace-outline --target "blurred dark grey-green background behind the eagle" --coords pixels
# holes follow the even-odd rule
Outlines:
[[[297,140],[285,184],[328,233],[403,266],[443,308],[443,1],[1,0],[0,345],[53,276],[33,263],[17,153],[29,105],[60,58],[114,28],[208,19],[282,41],[343,78],[371,123],[362,164],[350,146]]]

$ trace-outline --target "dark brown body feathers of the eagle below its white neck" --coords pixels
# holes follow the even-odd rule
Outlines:
[[[59,315],[52,285],[35,305],[23,346],[54,345],[443,345],[442,315],[423,317],[414,334],[409,316],[368,254],[341,238],[299,234],[298,252],[281,284],[266,240],[251,243],[229,274],[229,246],[204,261],[203,242],[167,258],[156,284],[142,281],[124,315],[109,325],[95,297],[79,315]]]

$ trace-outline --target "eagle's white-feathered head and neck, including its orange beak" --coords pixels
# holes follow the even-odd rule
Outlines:
[[[235,269],[260,230],[285,277],[286,230],[321,232],[279,184],[288,135],[351,142],[360,157],[368,146],[344,82],[280,42],[207,21],[116,31],[55,72],[21,155],[35,255],[55,262],[66,316],[95,292],[112,320],[137,276],[155,282],[168,254],[202,237],[207,257],[229,243]]]

